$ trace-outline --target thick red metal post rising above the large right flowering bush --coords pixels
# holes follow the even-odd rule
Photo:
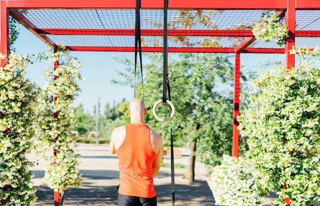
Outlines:
[[[295,41],[295,0],[288,0],[285,23],[288,28],[289,37],[286,39],[284,66],[290,69],[294,67],[294,54],[290,54],[290,50],[294,47]]]

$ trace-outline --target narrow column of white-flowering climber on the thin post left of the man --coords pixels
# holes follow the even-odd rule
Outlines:
[[[52,62],[45,68],[43,76],[49,81],[39,100],[41,115],[34,146],[36,154],[48,163],[44,179],[51,189],[63,195],[64,190],[81,184],[77,139],[70,132],[75,126],[72,104],[80,92],[77,81],[81,79],[78,71],[81,64],[63,45],[55,53],[49,50],[45,56],[59,65],[55,69]]]

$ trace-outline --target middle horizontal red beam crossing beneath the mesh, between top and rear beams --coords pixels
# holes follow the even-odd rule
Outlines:
[[[134,36],[134,29],[34,29],[40,35],[130,35]],[[162,29],[142,29],[143,36],[163,36]],[[169,36],[253,36],[251,30],[168,30]]]

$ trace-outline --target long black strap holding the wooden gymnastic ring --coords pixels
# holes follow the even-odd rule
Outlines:
[[[171,101],[168,75],[169,75],[168,74],[168,0],[164,0],[164,73],[163,73],[162,102],[167,102],[167,88],[168,88],[169,101]],[[172,195],[172,206],[174,206],[174,202],[175,202],[174,156],[173,156],[174,154],[173,154],[173,136],[172,136],[171,122],[170,122],[170,128],[171,128],[171,195]]]

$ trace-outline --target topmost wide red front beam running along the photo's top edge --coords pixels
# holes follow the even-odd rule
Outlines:
[[[297,0],[298,1],[298,0]],[[312,1],[312,0],[304,0]],[[316,0],[315,0],[316,1]],[[45,8],[67,8],[67,9],[134,9],[134,0],[122,1],[101,1],[101,0],[15,0],[6,1],[9,8],[21,9],[45,9]],[[303,5],[310,5],[311,3],[304,3]],[[141,0],[141,7],[143,9],[163,9],[163,0]],[[169,9],[286,9],[286,0],[224,0],[224,1],[210,1],[210,0],[174,0],[169,1]]]

